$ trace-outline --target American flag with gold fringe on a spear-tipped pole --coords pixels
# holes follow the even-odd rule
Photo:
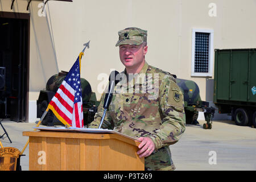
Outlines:
[[[84,127],[80,59],[79,56],[48,105],[64,125],[72,127]]]

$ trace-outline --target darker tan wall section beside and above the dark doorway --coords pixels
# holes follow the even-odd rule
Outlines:
[[[36,100],[39,90],[46,87],[48,78],[57,72],[58,63],[51,27],[46,16],[41,16],[43,3],[32,1],[27,9],[27,1],[15,1],[11,10],[9,0],[0,0],[0,11],[30,13],[30,100]]]

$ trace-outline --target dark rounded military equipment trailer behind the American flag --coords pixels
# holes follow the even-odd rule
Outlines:
[[[57,89],[67,76],[68,72],[61,71],[56,75],[49,78],[46,84],[46,89],[40,90],[39,98],[36,101],[37,105],[37,117],[41,118],[44,111],[47,109],[49,102],[52,97],[55,96]],[[98,105],[96,94],[92,92],[92,88],[85,78],[81,78],[81,88],[82,88],[82,109],[84,112],[84,125],[88,125],[93,121],[94,115],[97,111]],[[53,125],[63,125],[57,119],[57,117],[52,113],[51,110],[48,111],[47,115],[42,121],[42,125],[53,126]]]

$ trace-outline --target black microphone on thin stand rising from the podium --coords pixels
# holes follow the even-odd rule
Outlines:
[[[100,122],[100,125],[98,126],[98,129],[101,128],[101,125],[104,122],[104,118],[105,118],[105,115],[106,115],[106,110],[109,108],[110,102],[112,100],[115,85],[117,85],[117,83],[121,80],[121,79],[116,80],[116,77],[117,77],[118,74],[119,74],[118,71],[112,71],[110,73],[109,88],[108,88],[108,92],[105,94],[104,105],[103,105],[104,113],[102,115],[101,122]]]

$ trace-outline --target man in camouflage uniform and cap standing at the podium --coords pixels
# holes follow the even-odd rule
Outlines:
[[[118,34],[116,46],[125,71],[115,86],[102,128],[138,138],[137,154],[145,157],[145,170],[174,170],[169,146],[185,131],[183,93],[170,73],[145,61],[147,31],[133,27]],[[100,124],[104,96],[90,128]]]

